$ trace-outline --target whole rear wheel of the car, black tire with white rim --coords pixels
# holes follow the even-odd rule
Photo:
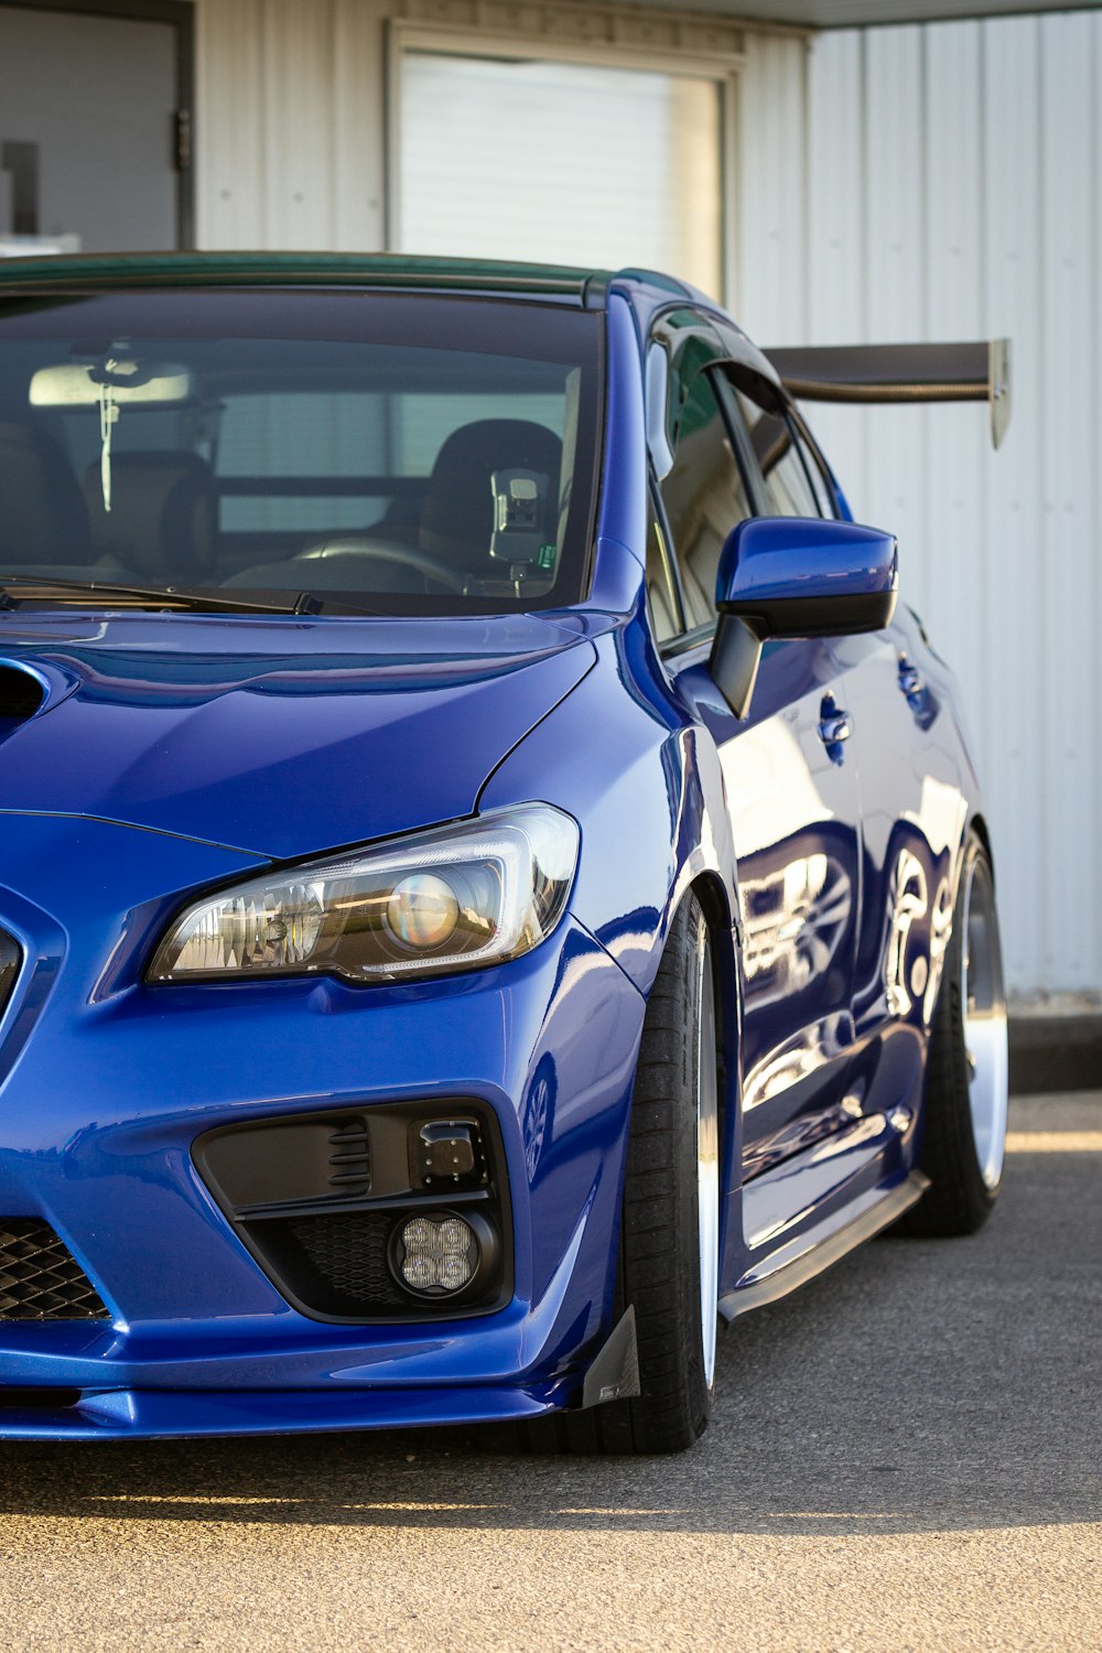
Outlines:
[[[1003,954],[991,863],[965,845],[953,936],[930,1028],[920,1167],[930,1189],[904,1217],[912,1235],[970,1235],[991,1215],[1006,1150]]]

